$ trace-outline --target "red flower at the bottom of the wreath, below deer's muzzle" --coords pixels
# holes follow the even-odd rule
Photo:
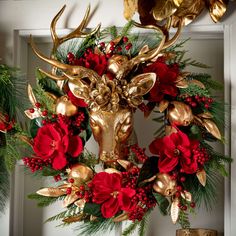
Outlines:
[[[100,172],[92,181],[93,202],[102,204],[101,211],[105,218],[111,218],[118,211],[132,208],[131,198],[135,190],[122,188],[122,177],[117,173]]]

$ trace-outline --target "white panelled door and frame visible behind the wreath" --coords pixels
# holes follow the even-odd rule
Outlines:
[[[59,28],[72,27],[78,25],[81,16],[86,8],[85,1],[0,1],[0,57],[5,58],[8,63],[14,61],[15,65],[20,65],[22,70],[27,74],[30,81],[34,80],[34,70],[36,66],[45,67],[44,63],[39,61],[32,53],[29,44],[29,34],[36,35],[38,47],[48,54],[50,51],[49,41],[49,25],[52,17],[67,3],[68,9],[64,13],[59,22]],[[89,27],[94,27],[101,22],[104,27],[111,24],[122,26],[125,24],[123,19],[123,5],[121,0],[101,0],[93,1],[92,7],[98,9],[94,14]],[[109,14],[112,9],[112,14]],[[225,83],[226,88],[229,88],[229,81],[233,81],[236,73],[232,67],[233,62],[236,62],[234,54],[236,48],[232,40],[236,38],[235,30],[233,30],[235,15],[231,15],[223,24],[217,26],[212,25],[209,18],[202,17],[194,25],[189,26],[184,32],[183,37],[191,37],[192,39],[186,43],[186,49],[189,51],[189,56],[212,66],[209,72],[213,78],[221,80]],[[67,22],[65,25],[63,22]],[[63,32],[63,31],[61,31]],[[235,42],[235,41],[234,41]],[[229,49],[230,47],[230,49]],[[235,53],[233,53],[233,51]],[[226,64],[227,62],[227,64]],[[199,69],[200,70],[200,69]],[[198,70],[198,71],[199,71]],[[229,92],[230,90],[226,90]],[[232,99],[234,99],[232,94]],[[229,94],[225,94],[226,99]],[[234,100],[233,100],[234,102]],[[234,104],[234,103],[233,103]],[[234,115],[234,113],[233,113]],[[151,120],[144,120],[141,114],[136,114],[135,126],[139,137],[140,146],[147,147],[153,138],[153,130],[156,124]],[[232,122],[232,127],[234,124]],[[233,133],[232,133],[233,135]],[[227,138],[227,137],[226,137]],[[95,142],[91,141],[88,147],[90,150],[96,151]],[[222,146],[216,147],[223,152]],[[226,146],[226,151],[228,148]],[[232,153],[235,152],[235,147]],[[231,185],[236,185],[234,179],[235,171],[232,169]],[[192,226],[197,228],[212,228],[216,229],[226,236],[236,235],[236,228],[231,223],[235,219],[235,211],[230,212],[231,202],[228,191],[229,180],[226,180],[226,190],[224,190],[224,181],[219,184],[219,199],[216,207],[211,213],[205,209],[200,209],[196,216],[191,217]],[[49,208],[40,209],[36,207],[36,202],[27,199],[27,194],[39,189],[41,186],[48,186],[49,183],[42,183],[31,176],[25,175],[23,166],[18,164],[15,173],[12,177],[12,196],[10,210],[7,209],[6,214],[0,218],[0,235],[3,236],[62,236],[78,235],[73,231],[73,226],[68,228],[58,228],[56,223],[44,224],[44,221],[62,210],[60,203],[52,205]],[[232,188],[231,198],[236,197]],[[226,201],[224,200],[226,199]],[[234,208],[234,210],[236,210]],[[174,236],[176,226],[172,225],[170,218],[163,217],[156,210],[151,215],[151,220],[148,225],[148,236]],[[112,232],[102,235],[118,236],[120,229],[115,229]]]

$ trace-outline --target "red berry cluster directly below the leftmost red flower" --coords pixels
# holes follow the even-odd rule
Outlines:
[[[29,167],[32,172],[37,170],[42,170],[44,166],[49,166],[52,163],[52,160],[49,159],[41,159],[39,157],[24,157],[23,158],[24,165]]]

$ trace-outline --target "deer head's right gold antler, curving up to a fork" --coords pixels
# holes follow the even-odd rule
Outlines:
[[[156,48],[149,50],[145,53],[141,53],[141,54],[137,55],[136,57],[130,59],[128,62],[124,63],[122,65],[122,67],[120,68],[119,72],[117,73],[116,78],[122,79],[123,77],[125,77],[127,75],[127,73],[129,73],[129,71],[131,71],[133,69],[134,66],[136,66],[142,62],[152,60],[153,58],[158,56],[158,54],[160,53],[161,50],[166,49],[166,48],[170,47],[171,45],[173,45],[176,42],[176,40],[179,38],[180,32],[183,27],[182,22],[183,21],[180,20],[179,25],[178,25],[178,29],[177,29],[175,35],[170,40],[168,39],[169,38],[168,30],[166,30],[164,27],[161,27],[158,25],[145,25],[145,26],[143,26],[137,22],[134,22],[134,25],[139,28],[154,29],[154,30],[160,32],[162,35],[162,40]],[[169,24],[169,23],[167,23],[167,24]]]

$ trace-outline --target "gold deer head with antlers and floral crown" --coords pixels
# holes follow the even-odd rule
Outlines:
[[[144,47],[140,53],[128,58],[122,55],[113,55],[108,61],[108,70],[114,74],[110,80],[106,74],[100,76],[92,69],[82,66],[64,64],[54,57],[58,46],[63,42],[77,37],[87,37],[96,34],[100,25],[90,33],[84,33],[83,29],[88,22],[90,7],[79,25],[70,34],[59,38],[56,34],[56,22],[65,9],[65,6],[54,17],[51,23],[51,35],[53,49],[51,57],[41,54],[35,47],[31,37],[31,46],[35,54],[53,68],[48,73],[41,70],[48,77],[59,82],[67,83],[67,87],[77,97],[82,98],[88,104],[90,125],[95,140],[99,144],[100,160],[106,164],[114,164],[117,159],[122,159],[122,146],[130,137],[133,130],[133,113],[142,103],[143,95],[148,93],[156,81],[155,73],[144,73],[131,79],[127,75],[141,63],[147,63],[156,58],[160,52],[171,46],[178,38],[182,24],[179,24],[176,34],[169,39],[168,30],[164,26],[142,26],[134,23],[137,27],[153,29],[162,35],[158,45],[149,50]],[[164,33],[165,32],[165,33]],[[60,76],[57,71],[60,70]]]

